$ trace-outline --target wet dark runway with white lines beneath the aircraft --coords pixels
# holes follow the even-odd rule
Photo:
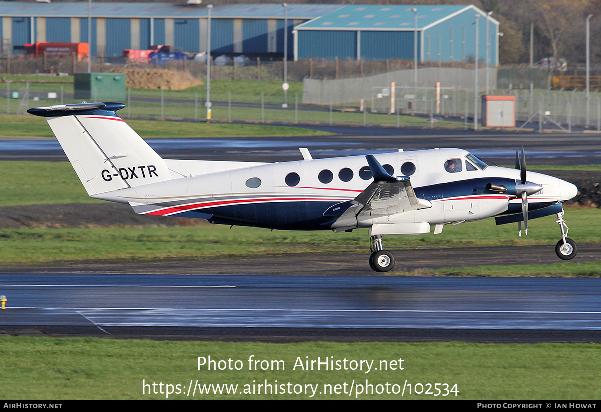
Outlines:
[[[573,336],[601,341],[599,279],[3,274],[0,291],[8,298],[0,329],[79,327],[117,336],[388,330],[439,339],[480,331],[484,340],[521,331],[545,339],[563,332],[567,341],[578,331]]]

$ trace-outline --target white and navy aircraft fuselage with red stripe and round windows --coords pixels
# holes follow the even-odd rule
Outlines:
[[[412,222],[436,225],[519,213],[521,199],[519,194],[516,199],[516,181],[520,180],[520,171],[478,165],[468,155],[468,151],[456,148],[374,155],[389,174],[408,176],[416,197],[431,202],[432,207],[364,217],[355,227]],[[451,159],[459,160],[460,170],[445,168]],[[245,166],[93,197],[130,203],[137,213],[204,217],[227,225],[320,230],[336,228],[336,214],[324,216],[326,210],[337,204],[344,207],[373,181],[365,156]],[[528,197],[528,210],[557,204],[577,193],[573,184],[549,175],[529,172],[528,181],[543,187]],[[506,190],[499,192],[490,187]]]

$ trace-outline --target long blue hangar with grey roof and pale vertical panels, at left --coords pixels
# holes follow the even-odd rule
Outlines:
[[[289,55],[294,25],[337,8],[340,4],[288,5]],[[203,52],[207,14],[204,4],[92,2],[90,53],[121,56],[123,49],[149,49],[153,44]],[[88,41],[88,2],[0,1],[0,16],[2,44],[9,52],[22,53],[25,43],[35,41]],[[284,7],[279,3],[216,5],[211,13],[211,32],[214,53],[282,55]]]

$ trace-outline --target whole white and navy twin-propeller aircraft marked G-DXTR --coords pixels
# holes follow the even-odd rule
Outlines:
[[[558,178],[489,166],[466,150],[431,150],[282,163],[162,159],[118,117],[122,103],[32,108],[46,118],[91,198],[131,205],[139,214],[198,217],[224,225],[352,231],[368,228],[370,267],[391,270],[386,235],[440,234],[444,225],[496,216],[496,223],[557,214],[564,260],[576,256],[562,202],[578,189]],[[527,177],[527,178],[526,178]]]

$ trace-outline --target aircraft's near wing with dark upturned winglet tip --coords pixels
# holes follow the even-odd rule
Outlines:
[[[389,175],[371,154],[365,156],[365,159],[367,159],[374,180],[332,223],[330,226],[332,229],[355,228],[361,217],[390,216],[432,207],[432,204],[426,199],[419,199],[415,196],[409,177]]]

